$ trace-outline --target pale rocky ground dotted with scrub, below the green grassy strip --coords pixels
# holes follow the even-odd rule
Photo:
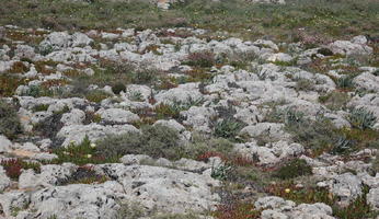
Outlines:
[[[0,218],[378,218],[379,44],[0,27]]]

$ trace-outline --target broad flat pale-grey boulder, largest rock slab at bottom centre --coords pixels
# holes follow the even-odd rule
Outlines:
[[[219,185],[208,174],[160,166],[103,164],[102,170],[124,186],[129,199],[148,209],[183,214],[215,209],[219,196],[213,188]]]

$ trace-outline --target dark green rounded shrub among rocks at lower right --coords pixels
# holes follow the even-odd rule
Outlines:
[[[274,176],[282,178],[282,180],[288,180],[294,178],[302,175],[311,175],[312,174],[312,168],[301,159],[294,159],[289,161],[288,163],[280,166],[275,173]]]

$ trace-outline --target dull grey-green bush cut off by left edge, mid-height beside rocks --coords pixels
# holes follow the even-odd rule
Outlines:
[[[13,139],[22,132],[22,126],[16,110],[11,104],[0,100],[0,134]]]

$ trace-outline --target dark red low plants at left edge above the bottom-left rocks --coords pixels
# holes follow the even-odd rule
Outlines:
[[[19,180],[22,169],[33,169],[36,173],[41,172],[39,163],[26,162],[21,159],[2,160],[0,165],[4,168],[7,175],[12,180]]]

